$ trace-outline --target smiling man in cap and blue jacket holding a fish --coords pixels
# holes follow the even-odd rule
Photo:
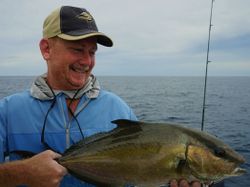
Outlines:
[[[112,130],[115,119],[136,120],[127,104],[102,90],[91,73],[97,43],[113,45],[84,8],[63,6],[46,18],[40,50],[47,73],[37,77],[30,91],[0,101],[0,162],[7,156],[11,161],[0,165],[0,186],[92,186],[67,175],[55,161],[58,153]],[[37,154],[18,160],[15,150]]]

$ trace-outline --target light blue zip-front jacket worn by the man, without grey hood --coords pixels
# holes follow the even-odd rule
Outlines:
[[[63,153],[70,145],[83,137],[75,118],[70,118],[66,98],[63,93],[53,100],[39,100],[29,91],[17,93],[0,100],[0,162],[9,155],[10,160],[18,159],[10,154],[13,150],[35,153],[46,150],[41,143],[45,116],[44,140],[53,150]],[[48,110],[51,110],[48,112]],[[107,132],[116,127],[111,121],[116,119],[136,120],[131,108],[113,93],[101,90],[97,98],[82,96],[74,113],[84,137],[98,132]],[[92,186],[67,175],[61,186]]]

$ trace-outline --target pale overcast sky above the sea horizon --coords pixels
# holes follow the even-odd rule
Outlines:
[[[1,0],[0,75],[40,75],[46,16],[84,7],[114,46],[98,46],[97,76],[204,76],[211,0]],[[208,76],[250,76],[250,1],[215,0]]]

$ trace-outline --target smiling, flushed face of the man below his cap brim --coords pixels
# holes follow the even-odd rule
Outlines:
[[[82,88],[95,65],[96,38],[67,41],[48,40],[48,83],[53,89]]]

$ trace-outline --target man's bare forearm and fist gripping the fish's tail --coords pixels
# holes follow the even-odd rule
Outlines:
[[[47,150],[28,159],[0,164],[0,186],[58,187],[67,173],[55,160],[60,156]]]

